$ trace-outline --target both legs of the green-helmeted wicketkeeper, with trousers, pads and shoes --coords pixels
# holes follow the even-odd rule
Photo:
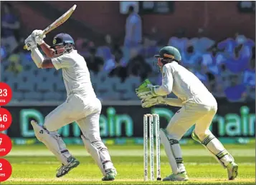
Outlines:
[[[179,140],[194,124],[196,124],[196,128],[192,135],[193,139],[206,146],[222,166],[227,168],[230,180],[237,176],[238,166],[234,163],[233,157],[209,131],[209,126],[216,111],[217,106],[186,104],[174,114],[166,129],[161,129],[161,143],[164,146],[173,173],[163,179],[163,181],[186,181],[189,179],[183,164]]]

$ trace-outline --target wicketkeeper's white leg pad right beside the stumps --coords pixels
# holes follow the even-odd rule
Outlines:
[[[169,159],[169,164],[171,165],[171,170],[174,174],[179,174],[186,171],[182,154],[181,146],[179,146],[179,141],[176,139],[170,139],[170,136],[165,129],[160,129],[160,139],[161,144],[166,151],[166,155]]]

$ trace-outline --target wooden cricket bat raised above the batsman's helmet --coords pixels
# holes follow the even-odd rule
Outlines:
[[[52,24],[47,26],[47,28],[43,30],[44,32],[40,36],[44,36],[44,35],[48,34],[49,31],[52,31],[53,29],[56,29],[57,27],[59,27],[60,25],[65,23],[65,21],[67,21],[67,19],[70,18],[70,16],[72,15],[72,13],[75,11],[76,8],[77,8],[77,5],[74,4],[65,14],[60,16],[59,19],[57,19]],[[24,46],[23,49],[27,49],[27,46]]]

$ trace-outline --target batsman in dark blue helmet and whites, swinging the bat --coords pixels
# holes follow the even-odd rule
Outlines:
[[[34,64],[39,69],[62,69],[67,100],[46,116],[43,126],[32,121],[34,133],[62,163],[56,176],[64,176],[80,162],[67,150],[57,130],[76,121],[82,131],[81,138],[85,149],[98,164],[104,176],[102,180],[112,181],[117,172],[110,159],[108,148],[100,138],[101,103],[93,90],[85,59],[77,54],[74,40],[69,34],[54,36],[51,47],[44,43],[44,38],[39,36],[41,34],[42,30],[32,32],[25,40],[27,50],[31,51]],[[49,58],[41,54],[37,44]]]

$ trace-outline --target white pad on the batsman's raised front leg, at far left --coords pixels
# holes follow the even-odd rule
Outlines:
[[[31,124],[37,139],[47,146],[62,164],[67,165],[71,154],[60,135],[56,131],[47,131],[36,121],[31,121]]]

